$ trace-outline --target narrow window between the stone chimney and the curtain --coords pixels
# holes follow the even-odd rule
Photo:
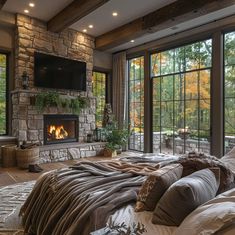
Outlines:
[[[96,97],[96,126],[102,127],[104,106],[106,103],[106,79],[107,74],[93,72],[92,90]]]

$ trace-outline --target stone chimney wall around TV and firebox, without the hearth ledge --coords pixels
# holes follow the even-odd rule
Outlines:
[[[50,144],[51,146],[52,143],[58,142],[86,142],[87,134],[92,133],[95,129],[96,98],[92,94],[94,38],[72,29],[66,29],[61,33],[52,33],[47,31],[45,22],[20,14],[16,17],[16,25],[15,89],[11,93],[13,136],[17,137],[19,144],[26,141],[27,143],[39,142],[41,145]],[[34,83],[35,51],[85,62],[86,91],[36,87]],[[27,90],[22,87],[22,74],[24,71],[29,75],[29,88]],[[37,94],[48,91],[55,91],[60,96],[68,99],[81,96],[87,97],[89,100],[89,107],[81,110],[77,121],[72,122],[74,126],[72,135],[64,140],[45,137],[44,118],[47,115],[48,117],[49,115],[51,117],[53,115],[69,117],[70,115],[71,117],[72,113],[60,107],[48,107],[40,111],[35,103],[31,102]],[[68,125],[68,120],[63,122],[63,125]],[[70,127],[67,126],[67,128]],[[61,131],[63,132],[63,129]]]

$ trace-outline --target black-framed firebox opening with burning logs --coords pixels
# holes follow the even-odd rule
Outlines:
[[[44,144],[78,141],[78,116],[44,115]]]

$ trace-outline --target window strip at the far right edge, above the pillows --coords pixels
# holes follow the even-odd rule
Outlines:
[[[235,146],[235,32],[224,36],[224,146]]]

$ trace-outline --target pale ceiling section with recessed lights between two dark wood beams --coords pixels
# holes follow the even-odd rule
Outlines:
[[[176,0],[110,0],[73,24],[71,28],[78,31],[82,31],[86,28],[88,34],[99,36],[175,1]],[[112,12],[114,11],[118,12],[117,17],[112,16]],[[94,25],[94,28],[89,29],[89,24]]]

